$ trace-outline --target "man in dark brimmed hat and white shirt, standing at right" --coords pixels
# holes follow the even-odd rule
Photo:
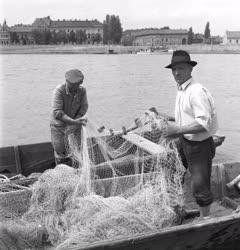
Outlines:
[[[163,136],[179,137],[180,155],[191,174],[192,192],[199,206],[200,216],[210,214],[213,196],[210,188],[212,158],[215,146],[212,136],[218,128],[217,114],[210,92],[192,77],[197,62],[183,50],[176,50],[171,64],[177,83],[174,125],[163,130]]]

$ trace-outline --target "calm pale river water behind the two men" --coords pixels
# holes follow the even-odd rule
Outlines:
[[[194,54],[193,76],[212,93],[224,144],[217,161],[240,160],[240,55]],[[1,55],[0,146],[50,141],[51,93],[66,70],[81,69],[89,99],[88,117],[114,130],[129,126],[146,109],[173,115],[176,84],[170,54]]]

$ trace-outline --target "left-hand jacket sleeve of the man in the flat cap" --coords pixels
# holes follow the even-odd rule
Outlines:
[[[57,120],[61,119],[62,116],[64,115],[63,96],[59,88],[56,88],[52,94],[52,110],[53,110],[53,117]]]

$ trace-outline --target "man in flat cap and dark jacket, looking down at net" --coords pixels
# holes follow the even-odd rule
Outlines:
[[[65,134],[69,126],[85,125],[88,109],[86,89],[82,87],[83,73],[72,69],[65,74],[65,83],[58,85],[52,95],[51,139],[56,164],[69,163]]]

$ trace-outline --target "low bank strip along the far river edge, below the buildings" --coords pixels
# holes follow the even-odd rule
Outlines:
[[[10,45],[0,47],[0,54],[136,54],[147,46],[122,45]],[[240,45],[192,44],[174,45],[166,49],[156,48],[153,54],[171,53],[184,49],[198,54],[240,54]]]

